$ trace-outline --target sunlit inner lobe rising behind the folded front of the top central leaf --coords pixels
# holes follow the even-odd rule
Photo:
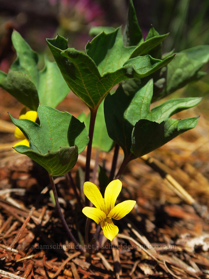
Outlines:
[[[111,33],[100,33],[86,44],[87,55],[94,60],[99,73],[104,75],[123,67],[136,47],[124,47],[121,28]],[[137,55],[138,56],[138,55]]]

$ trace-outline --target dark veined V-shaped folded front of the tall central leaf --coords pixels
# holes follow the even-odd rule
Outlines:
[[[118,34],[117,31],[115,34]],[[67,47],[65,38],[58,35],[55,39],[47,39],[47,43],[68,86],[90,110],[97,110],[104,97],[117,83],[128,78],[146,77],[167,65],[173,58],[171,56],[159,60],[153,59],[150,55],[138,56],[127,60],[114,72],[101,76],[94,60],[87,54],[73,48],[65,49]],[[114,60],[110,62],[113,64],[111,69],[118,63]]]

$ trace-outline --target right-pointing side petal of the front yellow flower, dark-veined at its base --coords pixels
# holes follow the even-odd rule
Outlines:
[[[120,220],[133,209],[135,204],[136,201],[132,200],[120,202],[110,211],[108,217]]]

